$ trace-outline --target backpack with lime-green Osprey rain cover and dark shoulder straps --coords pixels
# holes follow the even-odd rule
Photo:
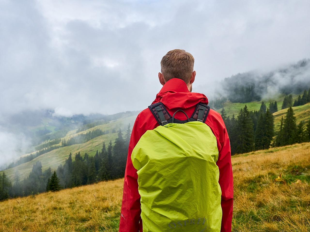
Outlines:
[[[210,107],[199,103],[191,118],[149,106],[159,126],[142,135],[131,154],[138,174],[146,232],[221,230],[222,208],[216,137],[205,124]],[[187,120],[175,119],[183,112]]]

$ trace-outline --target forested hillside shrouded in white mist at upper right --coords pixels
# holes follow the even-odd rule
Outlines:
[[[225,78],[217,86],[215,96],[209,96],[210,106],[220,109],[227,100],[231,103],[277,100],[278,95],[300,94],[309,88],[310,60],[304,59],[269,72],[250,71]],[[302,96],[296,98],[294,106],[305,102]]]

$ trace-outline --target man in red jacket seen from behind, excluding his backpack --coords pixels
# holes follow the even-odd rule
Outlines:
[[[161,73],[158,73],[159,81],[163,87],[157,94],[156,99],[152,104],[161,102],[166,107],[166,110],[170,115],[173,115],[177,110],[183,110],[187,115],[194,115],[193,113],[197,109],[197,104],[202,103],[207,105],[208,99],[205,95],[191,92],[192,84],[196,76],[196,71],[193,71],[193,66],[194,58],[190,53],[180,49],[169,51],[162,58]],[[187,119],[187,116],[181,114],[180,112],[178,112],[178,114],[175,116],[179,120]],[[233,179],[230,142],[223,119],[219,113],[214,110],[210,110],[206,119],[204,120],[208,128],[210,127],[214,135],[212,136],[216,138],[215,146],[217,146],[218,150],[216,165],[219,171],[218,184],[221,190],[221,193],[219,191],[219,195],[221,195],[219,196],[219,207],[222,209],[222,217],[221,221],[219,221],[220,231],[229,232],[231,231],[233,203]],[[128,149],[119,226],[120,232],[143,231],[140,194],[138,191],[138,174],[137,169],[135,169],[132,162],[131,155],[141,137],[146,134],[148,130],[154,130],[157,128],[159,126],[158,123],[158,120],[154,117],[154,114],[149,108],[143,110],[136,118]],[[201,146],[207,147],[208,144],[201,144]],[[198,180],[199,178],[201,177],[197,175]],[[213,179],[215,179],[215,177]],[[152,218],[150,218],[150,220],[152,220]],[[190,220],[190,222],[185,220],[185,224],[183,224],[183,222],[178,222],[178,224],[176,224],[177,222],[171,222],[172,224],[169,224],[167,229],[168,231],[172,231],[172,229],[176,228],[177,225],[179,225],[179,227],[183,226],[182,228],[185,228],[184,226],[186,226],[186,223],[187,225],[189,225],[189,223],[191,225],[194,225],[195,223],[197,224],[197,222],[202,223],[205,218],[199,218],[196,219],[196,221],[194,220],[195,219]],[[188,231],[195,230],[188,229]]]

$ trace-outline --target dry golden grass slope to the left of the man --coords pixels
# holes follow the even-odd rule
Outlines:
[[[1,202],[0,231],[118,231],[123,183],[119,179]]]

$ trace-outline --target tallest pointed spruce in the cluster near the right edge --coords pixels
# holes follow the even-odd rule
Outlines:
[[[296,142],[296,118],[292,107],[287,110],[283,123],[283,144],[289,145]]]

